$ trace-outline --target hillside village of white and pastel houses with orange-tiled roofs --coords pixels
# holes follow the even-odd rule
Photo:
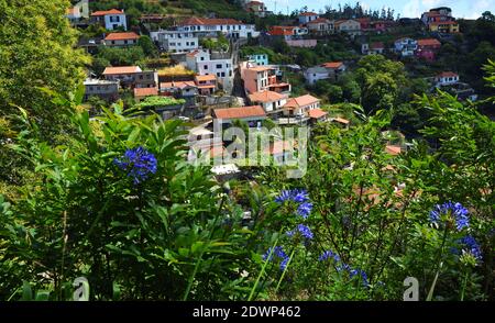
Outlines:
[[[274,15],[262,1],[241,1],[240,5],[258,21]],[[362,13],[360,18],[332,19],[329,14],[301,10],[284,16],[283,24],[263,29],[233,18],[216,18],[215,13],[187,18],[151,12],[142,14],[140,23],[133,25],[121,8],[89,12],[79,8],[76,4],[67,11],[70,23],[81,30],[99,29],[92,37],[79,43],[88,53],[98,59],[106,47],[131,51],[142,46],[152,63],[139,66],[140,62],[128,59],[132,64],[124,65],[114,59],[116,63],[106,60],[111,65],[102,66],[100,71],[89,68],[84,83],[88,104],[97,108],[102,101],[124,100],[127,108],[141,107],[164,119],[191,121],[195,124],[191,131],[202,129],[207,137],[212,135],[216,120],[223,124],[240,121],[253,127],[266,124],[266,120],[280,126],[332,122],[348,127],[352,125],[352,115],[342,110],[336,112],[331,104],[342,100],[359,103],[361,99],[343,97],[334,85],[358,68],[361,57],[383,55],[406,65],[431,64],[442,44],[452,42],[462,32],[454,13],[446,7],[407,19],[394,19],[391,12],[382,12],[382,16]],[[415,33],[420,36],[409,36]],[[385,38],[388,41],[374,41]],[[284,58],[276,57],[283,55],[275,53],[277,49],[311,51],[327,46],[328,40],[340,42],[340,52],[348,53],[343,59],[310,65],[304,59],[298,59],[302,64],[284,64]],[[418,79],[422,89],[431,93],[441,89],[459,100],[477,99],[476,91],[453,68]],[[206,145],[205,138],[199,141],[199,149],[215,155],[219,143]],[[404,149],[404,144],[405,141],[398,148]]]

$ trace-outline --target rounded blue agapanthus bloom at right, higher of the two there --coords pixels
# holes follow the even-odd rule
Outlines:
[[[455,225],[458,231],[462,231],[470,226],[468,213],[468,209],[461,203],[447,202],[437,204],[430,212],[430,222],[437,227],[440,225],[448,225],[450,222]],[[448,223],[442,223],[443,221],[447,221]]]

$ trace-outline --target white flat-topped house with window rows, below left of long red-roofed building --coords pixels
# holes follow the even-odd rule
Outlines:
[[[158,46],[169,53],[186,53],[199,48],[199,40],[193,33],[178,31],[157,31],[150,33]]]

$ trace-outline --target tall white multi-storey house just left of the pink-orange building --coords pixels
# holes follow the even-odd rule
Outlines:
[[[234,70],[232,58],[211,59],[208,51],[196,49],[186,55],[186,64],[199,75],[215,75],[226,91],[232,89]]]

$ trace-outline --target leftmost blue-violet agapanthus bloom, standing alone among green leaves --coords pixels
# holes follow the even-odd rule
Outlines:
[[[143,147],[125,151],[121,158],[113,159],[120,169],[127,171],[134,183],[140,183],[148,178],[151,174],[157,170],[157,160],[155,155],[148,153]]]

